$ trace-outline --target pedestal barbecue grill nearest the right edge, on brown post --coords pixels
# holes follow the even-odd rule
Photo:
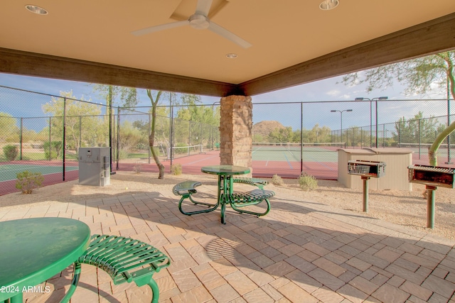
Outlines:
[[[454,188],[455,170],[448,167],[410,165],[409,181],[427,189],[427,227],[434,228],[434,191],[438,186]]]

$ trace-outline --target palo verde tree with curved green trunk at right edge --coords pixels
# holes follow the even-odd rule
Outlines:
[[[455,50],[419,57],[392,65],[375,67],[365,71],[365,77],[360,79],[358,72],[343,77],[343,83],[356,85],[367,83],[367,92],[373,89],[390,87],[394,80],[407,85],[405,94],[425,94],[432,89],[434,84],[447,87],[452,98],[455,98],[454,79]],[[448,94],[449,95],[449,94]],[[444,139],[455,130],[455,121],[439,133],[434,143],[429,148],[429,165],[437,165],[437,150]]]

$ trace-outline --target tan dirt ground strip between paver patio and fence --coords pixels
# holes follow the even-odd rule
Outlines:
[[[216,184],[215,176],[188,175],[173,176],[167,174],[164,180],[158,180],[157,174],[149,172],[117,172],[112,175],[111,184],[106,187],[79,185],[78,181],[54,184],[36,189],[33,194],[13,193],[0,196],[1,211],[34,204],[36,206],[60,202],[76,202],[97,197],[109,197],[117,194],[134,192],[166,192],[171,194],[174,184],[181,180],[195,179]],[[283,186],[267,185],[279,197],[280,192],[292,194],[302,201],[327,204],[338,209],[357,213],[363,212],[363,189],[348,189],[337,181],[319,180],[318,188],[304,192],[297,180],[284,180]],[[427,228],[427,199],[422,195],[424,185],[412,184],[412,192],[400,190],[369,191],[369,211],[367,216],[409,226],[422,231],[455,239],[455,198],[453,189],[438,187],[435,196],[436,211],[434,229]],[[274,198],[276,199],[276,198]],[[273,208],[273,204],[272,204]]]

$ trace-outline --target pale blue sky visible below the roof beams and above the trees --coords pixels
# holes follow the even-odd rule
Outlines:
[[[370,99],[382,96],[388,97],[390,101],[378,102],[378,123],[394,123],[402,116],[412,119],[419,111],[423,111],[424,116],[442,116],[447,113],[446,101],[444,102],[444,100],[437,101],[436,103],[433,101],[422,101],[446,98],[445,88],[439,89],[435,87],[430,94],[424,96],[405,96],[405,87],[400,83],[395,83],[392,87],[387,87],[387,89],[377,89],[367,93],[365,85],[349,87],[341,83],[341,79],[342,77],[333,77],[253,96],[253,123],[264,120],[277,120],[284,126],[291,126],[294,130],[300,129],[301,124],[303,124],[304,129],[311,129],[317,123],[319,126],[328,126],[334,130],[341,128],[341,115],[343,115],[343,128],[370,126],[371,115],[374,125],[375,102],[371,103],[373,108],[370,111],[370,101],[354,102],[356,97],[367,97]],[[94,92],[93,85],[85,82],[0,73],[0,85],[55,96],[59,96],[60,92],[72,90],[73,96],[77,99],[84,98],[85,100],[106,104],[106,101],[100,97],[100,94]],[[1,102],[1,98],[2,96],[0,94],[0,111],[8,112],[9,109],[4,108],[6,105]],[[220,98],[201,96],[201,100],[203,104],[212,105],[215,102],[219,102]],[[323,103],[315,103],[316,101]],[[289,102],[304,102],[302,121],[301,105],[287,104]],[[28,116],[47,116],[47,114],[43,114],[41,108],[37,110],[26,104],[12,103],[9,106],[16,106],[16,110],[28,111]],[[266,105],[263,103],[282,104]],[[150,101],[146,97],[144,89],[139,89],[138,106],[150,106]],[[352,109],[352,111],[348,112],[346,111],[347,109]],[[331,112],[331,110],[335,110],[336,112]],[[340,111],[343,111],[343,114]]]

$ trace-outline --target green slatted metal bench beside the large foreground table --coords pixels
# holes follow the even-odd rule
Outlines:
[[[79,282],[81,264],[94,265],[107,272],[115,285],[135,282],[138,287],[149,285],[152,303],[158,302],[159,288],[152,275],[166,268],[171,260],[147,243],[132,238],[93,235],[84,255],[75,262],[73,282],[62,302],[68,302]]]

